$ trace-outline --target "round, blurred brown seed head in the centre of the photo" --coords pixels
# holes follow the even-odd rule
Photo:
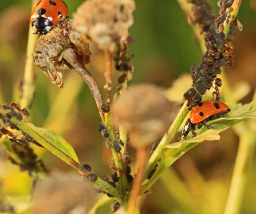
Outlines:
[[[122,125],[135,147],[152,144],[172,122],[172,103],[151,84],[133,86],[113,105],[114,125]]]

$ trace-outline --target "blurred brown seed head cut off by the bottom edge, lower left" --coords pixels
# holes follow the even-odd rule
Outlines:
[[[96,191],[88,182],[73,176],[53,175],[36,188],[32,213],[68,214],[77,207],[88,213],[95,198]]]

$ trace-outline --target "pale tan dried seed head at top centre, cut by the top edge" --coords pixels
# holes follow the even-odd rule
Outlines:
[[[115,51],[123,31],[133,25],[133,0],[89,0],[74,17],[74,28],[100,49]]]

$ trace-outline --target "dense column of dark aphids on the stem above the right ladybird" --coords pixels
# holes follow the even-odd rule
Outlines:
[[[233,1],[219,1],[218,5],[221,7],[220,15],[214,15],[213,17],[212,7],[208,2],[204,0],[190,0],[193,3],[193,15],[188,20],[193,25],[198,23],[207,51],[202,56],[202,62],[198,66],[192,66],[190,69],[192,73],[192,87],[184,93],[184,100],[188,101],[188,110],[198,105],[202,101],[203,94],[210,90],[210,88],[215,89],[215,92],[212,93],[215,96],[215,100],[220,99],[219,87],[222,86],[222,80],[217,78],[218,74],[222,72],[220,67],[224,65],[231,66],[234,62],[231,56],[233,46],[230,41],[235,35],[235,22],[231,23],[231,30],[226,39],[223,32],[223,22],[226,18],[230,18],[228,17],[230,14],[227,15],[227,10],[229,12],[232,10],[230,6]],[[215,30],[214,21],[217,22],[218,30]]]

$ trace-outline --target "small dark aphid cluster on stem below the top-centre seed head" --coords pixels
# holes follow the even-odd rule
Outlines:
[[[125,79],[127,80],[128,72],[132,72],[133,66],[131,65],[131,60],[133,57],[133,54],[131,57],[128,57],[128,45],[130,43],[133,43],[134,39],[132,37],[128,37],[126,42],[120,42],[119,46],[115,50],[113,60],[116,62],[115,68],[119,72],[122,72],[123,74],[120,74],[119,78],[117,79],[117,82],[119,85],[117,86],[116,90],[119,92],[122,88],[123,82]],[[127,84],[131,84],[131,80],[127,80]]]

